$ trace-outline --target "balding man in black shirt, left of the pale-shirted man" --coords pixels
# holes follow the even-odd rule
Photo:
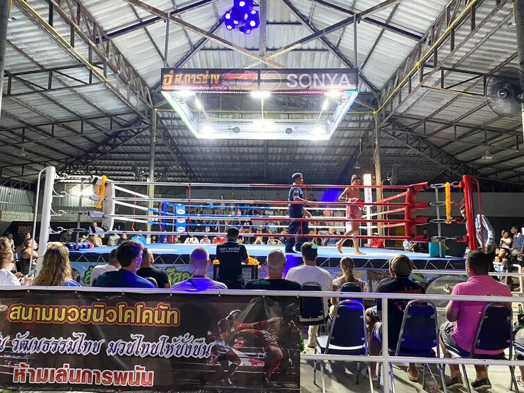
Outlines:
[[[268,277],[263,280],[251,280],[245,284],[245,289],[265,289],[267,291],[300,291],[300,284],[284,280],[282,273],[286,267],[286,254],[275,248],[268,254],[265,265],[268,267]]]

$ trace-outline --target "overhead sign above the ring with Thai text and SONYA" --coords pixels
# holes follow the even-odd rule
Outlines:
[[[247,93],[270,90],[274,93],[322,94],[326,90],[358,90],[358,70],[162,70],[162,91],[190,90],[202,93]]]

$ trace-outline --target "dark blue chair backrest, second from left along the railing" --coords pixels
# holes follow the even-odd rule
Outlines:
[[[329,346],[355,347],[364,346],[368,353],[366,310],[362,303],[355,300],[343,300],[336,305],[327,339]]]

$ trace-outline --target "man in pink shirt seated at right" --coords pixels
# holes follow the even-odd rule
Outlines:
[[[466,273],[468,281],[455,285],[452,295],[470,296],[511,296],[511,290],[506,284],[494,280],[488,275],[491,259],[485,252],[475,250],[466,257]],[[448,348],[457,348],[464,352],[471,351],[477,328],[482,317],[486,302],[470,302],[451,300],[446,307],[445,316],[448,321],[441,326],[440,338],[444,358],[450,358]],[[482,351],[477,350],[477,354],[498,354],[502,351]],[[471,383],[474,390],[491,389],[488,379],[486,366],[475,365],[477,372],[475,381]],[[462,376],[458,364],[450,364],[451,380],[446,384],[448,389],[455,389],[463,386]]]

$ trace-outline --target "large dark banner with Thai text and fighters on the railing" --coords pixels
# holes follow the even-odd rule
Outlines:
[[[300,390],[293,297],[2,291],[0,387]]]

